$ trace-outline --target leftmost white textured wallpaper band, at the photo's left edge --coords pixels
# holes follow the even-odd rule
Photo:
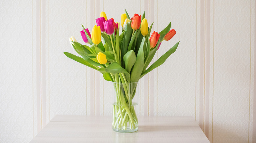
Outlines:
[[[0,142],[33,138],[31,1],[1,1]]]

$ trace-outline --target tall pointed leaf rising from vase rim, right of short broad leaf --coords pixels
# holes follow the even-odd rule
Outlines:
[[[144,66],[144,52],[143,47],[145,46],[145,37],[143,37],[141,41],[141,45],[139,47],[139,52],[136,57],[136,62],[134,63],[133,69],[131,71],[131,82],[139,81],[140,74],[142,73]]]

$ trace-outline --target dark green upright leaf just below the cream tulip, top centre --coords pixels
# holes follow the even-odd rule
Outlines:
[[[128,45],[130,43],[130,39],[133,33],[133,29],[130,24],[126,24],[125,26],[125,33],[124,33],[124,38],[122,41],[122,49],[121,49],[121,57],[127,53]]]

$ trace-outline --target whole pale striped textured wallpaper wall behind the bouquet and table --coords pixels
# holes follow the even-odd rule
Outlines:
[[[101,11],[120,21],[145,11],[153,30],[177,31],[140,80],[140,116],[192,116],[210,142],[256,142],[254,0],[0,1],[0,142],[29,142],[57,114],[111,115],[111,86],[63,54],[83,43]],[[253,116],[253,112],[255,115]]]

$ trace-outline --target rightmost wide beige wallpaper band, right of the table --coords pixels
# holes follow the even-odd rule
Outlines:
[[[213,141],[248,142],[250,1],[215,0]]]

